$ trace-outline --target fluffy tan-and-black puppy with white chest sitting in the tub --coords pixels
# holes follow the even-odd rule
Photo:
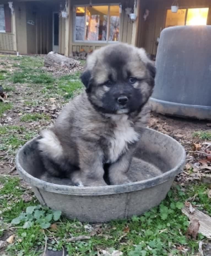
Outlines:
[[[63,108],[38,141],[45,168],[75,185],[123,184],[152,94],[155,67],[146,52],[128,44],[94,51],[81,76],[85,92]]]

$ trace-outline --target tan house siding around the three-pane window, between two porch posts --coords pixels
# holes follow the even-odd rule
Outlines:
[[[72,54],[73,51],[80,51],[80,49],[84,49],[86,52],[90,50],[97,49],[99,47],[102,47],[106,45],[107,43],[89,43],[89,42],[74,42],[74,6],[75,5],[87,5],[89,4],[89,0],[71,0],[71,8],[70,8],[70,26],[69,26],[69,55]],[[132,1],[126,1],[121,2],[122,4],[122,13],[120,15],[120,35],[119,38],[121,42],[124,43],[131,43],[132,38],[132,22],[128,19],[125,8],[126,7],[133,7]],[[113,1],[113,0],[95,0],[92,1],[92,4],[119,4],[119,1]]]

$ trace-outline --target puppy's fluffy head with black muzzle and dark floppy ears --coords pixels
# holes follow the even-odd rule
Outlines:
[[[81,76],[90,102],[108,114],[140,111],[152,94],[154,78],[155,67],[145,51],[121,43],[94,51]]]

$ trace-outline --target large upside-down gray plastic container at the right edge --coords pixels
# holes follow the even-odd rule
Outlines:
[[[176,26],[160,35],[153,111],[211,120],[211,26]]]

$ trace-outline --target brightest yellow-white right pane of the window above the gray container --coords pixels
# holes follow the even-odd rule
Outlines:
[[[209,8],[188,9],[186,25],[207,25]]]

